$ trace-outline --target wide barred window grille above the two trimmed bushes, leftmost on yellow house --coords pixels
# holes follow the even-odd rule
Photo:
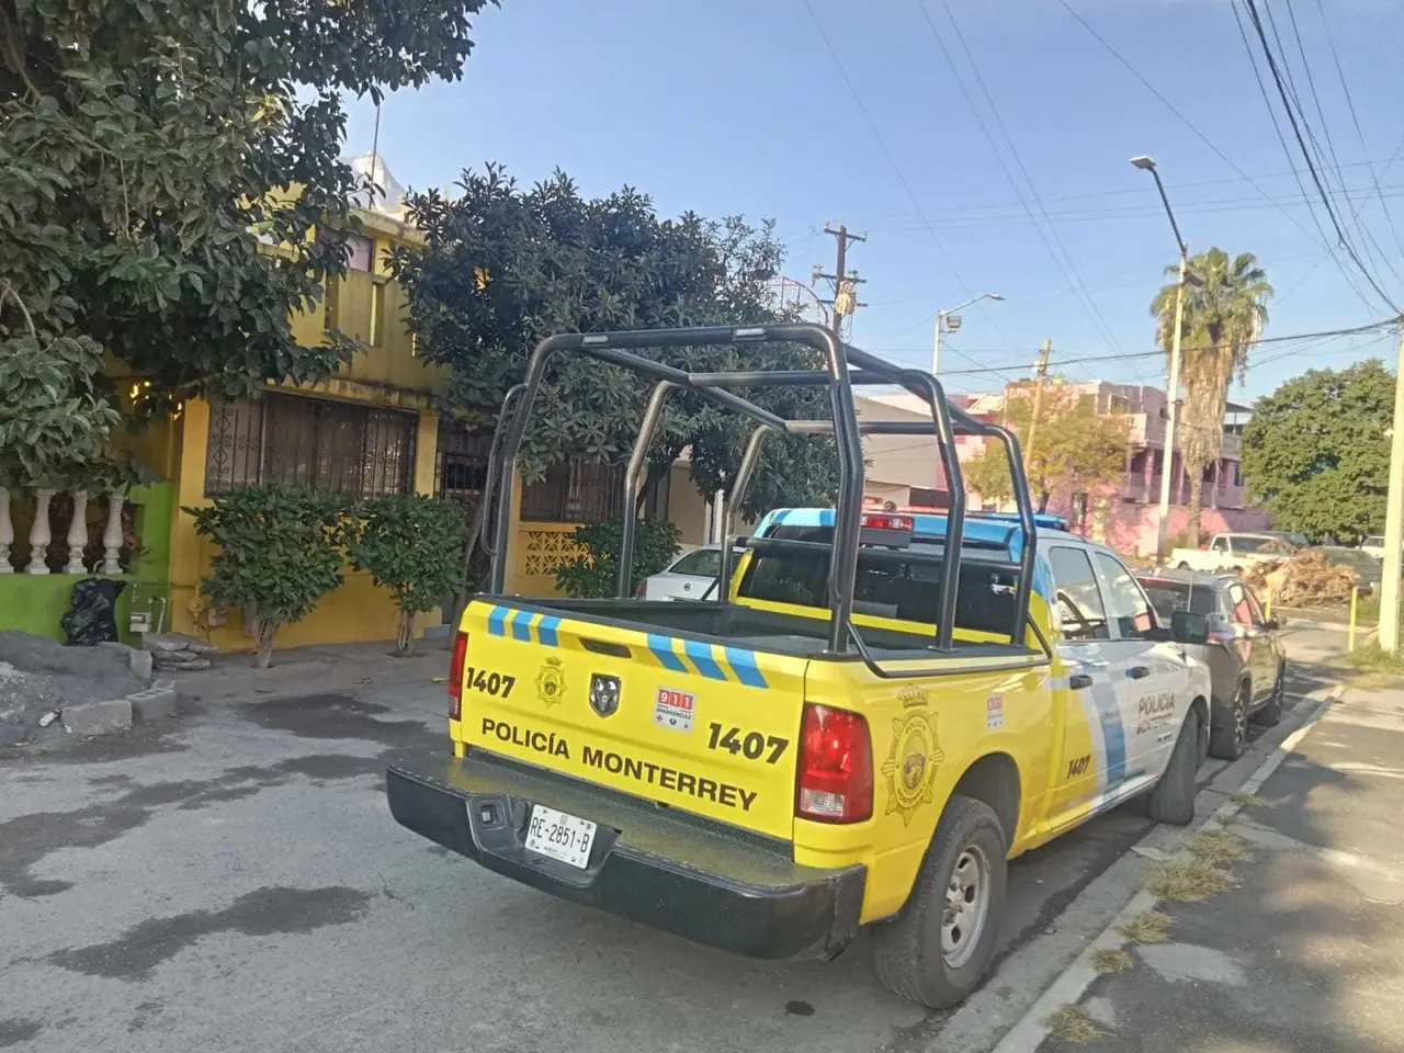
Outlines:
[[[310,486],[343,497],[407,494],[414,482],[411,413],[264,395],[213,402],[205,496],[237,486]]]

